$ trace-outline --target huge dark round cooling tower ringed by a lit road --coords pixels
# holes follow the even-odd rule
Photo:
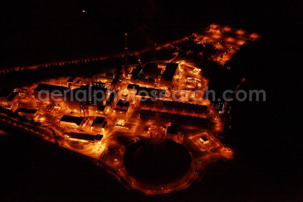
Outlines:
[[[169,183],[188,173],[191,156],[181,144],[169,139],[145,139],[128,146],[126,171],[148,184]]]

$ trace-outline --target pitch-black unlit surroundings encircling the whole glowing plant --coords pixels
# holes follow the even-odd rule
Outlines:
[[[255,49],[245,52],[253,59],[243,61],[243,67],[255,66],[256,69],[250,72],[249,82],[243,88],[266,89],[267,101],[236,103],[233,131],[236,138],[231,144],[237,156],[232,165],[224,169],[216,167],[201,183],[165,196],[143,197],[128,193],[103,170],[97,170],[81,157],[64,154],[61,159],[62,151],[47,143],[20,138],[16,146],[11,147],[7,143],[12,140],[4,138],[0,149],[5,162],[1,176],[2,188],[7,193],[5,199],[14,195],[15,200],[29,196],[33,200],[60,201],[101,198],[105,201],[302,200],[302,83],[298,78],[302,70],[297,51],[301,45],[300,1],[29,1],[22,5],[8,4],[1,14],[0,68],[120,52],[125,31],[130,33],[129,48],[142,49],[216,22],[261,34],[262,39]],[[255,141],[259,143],[254,144]],[[33,154],[50,156],[53,150],[56,151],[50,163],[44,155]],[[19,163],[24,165],[19,167]],[[59,169],[54,165],[63,166]],[[98,180],[90,178],[88,173],[94,173]],[[50,180],[52,176],[54,180]],[[65,180],[62,183],[60,179]],[[96,194],[98,191],[100,197]]]

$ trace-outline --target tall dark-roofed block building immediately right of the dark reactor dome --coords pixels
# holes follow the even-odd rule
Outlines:
[[[174,84],[174,76],[176,73],[176,70],[178,69],[179,64],[168,62],[166,64],[165,70],[163,74],[161,75],[160,83],[161,87],[166,87],[168,90],[171,89],[171,87]]]

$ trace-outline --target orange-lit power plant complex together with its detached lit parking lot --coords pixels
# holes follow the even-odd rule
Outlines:
[[[210,59],[222,65],[239,46],[258,38],[217,26],[190,38],[213,42],[218,52]],[[202,72],[185,60],[138,60],[90,77],[5,88],[0,104],[33,120],[21,127],[35,133],[40,133],[35,127],[43,128],[45,140],[110,168],[126,187],[163,194],[190,186],[216,160],[233,159],[218,135],[224,127],[220,114],[230,109],[205,99],[208,79]]]

